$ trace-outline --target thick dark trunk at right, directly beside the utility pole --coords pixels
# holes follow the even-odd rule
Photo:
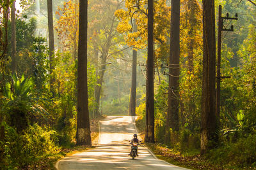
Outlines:
[[[203,0],[204,58],[202,78],[201,152],[205,153],[218,141],[215,115],[215,14],[214,0]],[[210,142],[211,141],[211,142]]]

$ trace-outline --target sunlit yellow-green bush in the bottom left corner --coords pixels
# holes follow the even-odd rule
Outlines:
[[[6,123],[2,125],[5,131],[4,139],[0,141],[0,148],[3,148],[0,167],[3,169],[21,169],[29,164],[38,164],[58,150],[56,132],[47,127],[35,124],[20,135]]]

